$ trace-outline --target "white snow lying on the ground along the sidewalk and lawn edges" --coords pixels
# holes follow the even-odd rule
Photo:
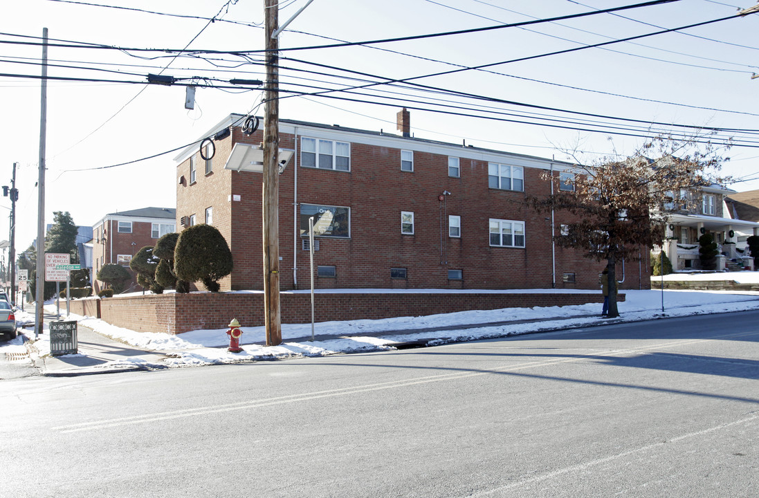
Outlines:
[[[741,278],[742,282],[753,279],[759,283],[759,272],[710,273],[710,279],[726,276],[728,279]],[[679,274],[680,279],[690,275]],[[696,275],[695,277],[700,277]],[[655,285],[652,279],[652,285]],[[357,292],[356,289],[351,289]],[[363,292],[375,292],[364,289]],[[388,292],[386,289],[383,292]],[[509,292],[564,292],[556,289],[531,289],[530,291]],[[572,291],[568,291],[572,292]],[[759,309],[759,292],[719,292],[719,291],[625,291],[625,302],[619,303],[618,322],[635,322],[661,317],[682,317],[694,314],[713,314],[729,311]],[[662,312],[662,305],[664,312]],[[194,330],[178,336],[165,333],[137,333],[129,329],[112,326],[91,317],[68,317],[78,320],[82,326],[95,330],[118,342],[166,355],[163,366],[186,367],[206,364],[227,364],[241,361],[255,361],[274,358],[294,358],[303,356],[324,356],[336,353],[359,351],[381,351],[394,349],[395,342],[423,339],[441,339],[437,343],[461,342],[466,340],[490,339],[534,333],[541,330],[565,328],[567,326],[587,326],[594,323],[608,323],[600,319],[600,304],[582,304],[565,307],[504,308],[499,310],[471,310],[450,314],[436,314],[424,317],[393,317],[384,320],[348,320],[316,323],[316,340],[311,342],[311,325],[282,324],[282,345],[263,345],[263,326],[242,326],[240,338],[243,352],[226,351],[229,338],[226,329]],[[51,310],[48,308],[48,310]],[[55,310],[53,304],[52,310]],[[551,320],[554,319],[554,320]],[[33,323],[33,315],[19,313],[17,321]],[[527,323],[501,323],[515,320],[541,320]],[[433,330],[424,330],[433,329]],[[33,339],[33,330],[25,332]],[[44,333],[34,342],[39,355],[49,354],[49,334]],[[435,342],[433,342],[435,343]],[[0,353],[7,348],[24,348],[21,339],[0,346]],[[15,351],[15,350],[14,350]],[[126,358],[111,367],[123,367],[133,361],[135,365],[144,363],[141,359]]]

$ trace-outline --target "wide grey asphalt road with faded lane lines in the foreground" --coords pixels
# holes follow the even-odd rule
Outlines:
[[[0,496],[757,496],[759,312],[0,382]]]

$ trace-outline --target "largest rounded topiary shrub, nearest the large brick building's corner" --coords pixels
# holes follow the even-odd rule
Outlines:
[[[187,282],[200,280],[211,292],[219,292],[219,279],[232,271],[232,253],[224,236],[205,223],[184,229],[174,250],[174,272]]]

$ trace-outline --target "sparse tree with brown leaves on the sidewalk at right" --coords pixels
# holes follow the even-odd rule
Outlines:
[[[609,317],[619,317],[616,262],[635,260],[641,245],[650,249],[662,244],[669,218],[665,206],[677,203],[687,208],[698,203],[702,187],[725,181],[716,178],[722,162],[715,148],[703,140],[658,137],[626,159],[578,165],[578,174],[572,177],[543,175],[556,183],[555,194],[527,201],[537,210],[574,215],[574,222],[562,225],[556,244],[606,261]],[[679,197],[675,193],[681,189],[691,194]]]

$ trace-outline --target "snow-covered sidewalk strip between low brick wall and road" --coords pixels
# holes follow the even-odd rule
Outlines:
[[[50,356],[47,330],[39,336],[40,340],[33,344],[27,341],[26,345],[29,358],[43,375],[73,377],[341,353],[395,351],[588,326],[759,309],[757,292],[671,291],[666,295],[666,312],[662,309],[662,299],[663,295],[658,291],[628,292],[627,301],[620,306],[622,316],[610,320],[599,316],[598,304],[585,304],[471,310],[386,320],[324,322],[316,324],[313,341],[310,324],[286,324],[282,326],[282,344],[277,346],[265,345],[263,326],[243,326],[240,340],[243,351],[239,353],[227,351],[229,339],[225,329],[196,330],[173,336],[165,333],[137,333],[110,326],[102,320],[80,317],[77,355]],[[71,317],[71,320],[75,319]],[[19,332],[24,333],[27,339],[34,337],[31,329],[20,329]],[[13,347],[24,351],[20,340]]]

